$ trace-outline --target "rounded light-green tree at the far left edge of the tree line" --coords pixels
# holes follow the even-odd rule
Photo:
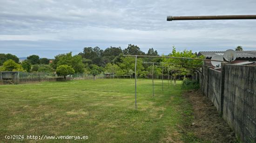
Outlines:
[[[1,71],[25,71],[22,66],[12,59],[4,62],[3,67],[0,69]]]

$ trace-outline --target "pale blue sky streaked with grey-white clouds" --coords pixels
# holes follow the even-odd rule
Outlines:
[[[84,47],[159,54],[256,50],[256,20],[167,21],[167,16],[256,14],[256,0],[0,0],[0,53],[53,58]]]

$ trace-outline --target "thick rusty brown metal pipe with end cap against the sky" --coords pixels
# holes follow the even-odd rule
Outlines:
[[[167,16],[167,21],[173,21],[173,20],[228,20],[228,19],[256,19],[256,15]]]

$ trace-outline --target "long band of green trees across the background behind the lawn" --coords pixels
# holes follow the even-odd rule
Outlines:
[[[67,75],[74,73],[91,74],[94,77],[98,74],[110,74],[115,76],[128,75],[133,77],[135,69],[135,58],[123,55],[145,55],[145,56],[159,56],[157,50],[149,48],[148,52],[143,52],[137,45],[128,44],[124,50],[121,47],[108,47],[101,50],[99,47],[85,47],[83,51],[77,55],[72,55],[72,52],[59,54],[54,59],[40,58],[37,55],[27,57],[27,60],[19,62],[17,56],[11,54],[0,54],[0,71],[23,71],[23,72],[48,72],[62,75],[66,78]],[[168,56],[181,56],[181,57],[197,57],[197,54],[192,51],[184,50],[177,52],[175,47]],[[202,57],[201,57],[202,58]],[[137,59],[137,74],[140,77],[146,77],[152,74],[152,65],[145,64],[144,62],[186,62],[182,60],[168,60],[160,57],[139,57]],[[188,62],[190,64],[202,64],[199,62]],[[171,67],[170,65],[165,65]],[[187,68],[180,68],[172,66],[180,75],[189,74]],[[167,74],[167,69],[164,74]],[[155,75],[162,74],[162,68],[155,67]]]

